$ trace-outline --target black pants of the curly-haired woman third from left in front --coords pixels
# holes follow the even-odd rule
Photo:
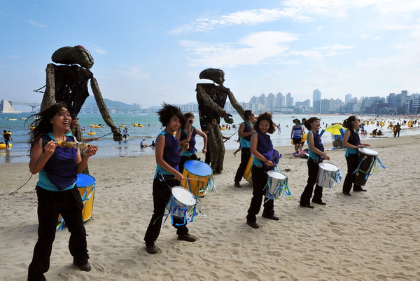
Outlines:
[[[261,209],[261,201],[262,197],[264,196],[264,202],[267,201],[267,197],[265,197],[265,185],[267,184],[268,175],[264,171],[262,167],[257,167],[255,165],[252,166],[252,183],[253,183],[253,191],[252,191],[252,199],[251,205],[248,209],[248,215],[246,216],[247,221],[257,221],[256,215],[260,212]],[[268,216],[274,214],[274,200],[268,200],[264,203],[264,211],[262,214],[267,214]]]

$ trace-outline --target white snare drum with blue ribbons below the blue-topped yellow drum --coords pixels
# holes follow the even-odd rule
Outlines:
[[[183,219],[184,224],[188,221],[193,221],[195,217],[195,206],[197,205],[197,199],[194,194],[184,189],[182,186],[172,187],[172,197],[167,203],[167,209],[171,213],[172,224],[174,222],[173,217],[179,217]]]

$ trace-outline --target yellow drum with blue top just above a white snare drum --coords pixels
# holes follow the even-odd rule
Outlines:
[[[204,162],[188,160],[182,174],[186,178],[181,181],[183,188],[191,191],[195,197],[202,197],[208,190],[216,188],[211,167]]]

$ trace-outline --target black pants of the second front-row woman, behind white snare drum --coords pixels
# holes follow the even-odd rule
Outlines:
[[[159,176],[158,176],[159,177]],[[148,225],[146,235],[144,235],[144,241],[146,246],[153,244],[159,237],[160,228],[162,227],[162,219],[165,214],[165,208],[169,200],[171,199],[172,193],[171,188],[173,186],[180,186],[177,179],[160,181],[159,179],[153,179],[153,215],[151,222]],[[176,224],[183,224],[183,219],[174,217],[174,228],[176,228],[176,234],[188,233],[186,225],[176,226]]]

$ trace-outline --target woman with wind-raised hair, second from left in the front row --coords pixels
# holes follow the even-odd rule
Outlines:
[[[183,175],[178,171],[178,165],[181,153],[188,149],[188,142],[179,148],[178,139],[174,133],[186,125],[186,118],[183,116],[179,107],[170,104],[163,104],[163,108],[158,111],[159,121],[165,126],[165,130],[160,132],[156,138],[155,158],[156,172],[153,179],[153,215],[148,225],[144,241],[146,242],[146,251],[149,254],[156,254],[158,247],[155,245],[159,237],[162,226],[165,207],[171,198],[171,189],[173,186],[181,186]],[[188,233],[183,219],[174,216],[174,228],[178,240],[195,242],[197,237]]]

